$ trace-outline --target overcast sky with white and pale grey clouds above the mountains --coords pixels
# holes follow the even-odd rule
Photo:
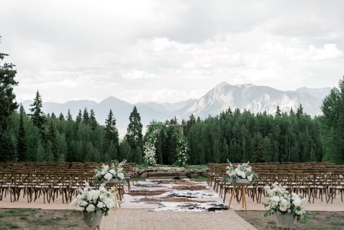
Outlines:
[[[338,84],[344,1],[0,0],[18,101],[199,98],[222,81]]]

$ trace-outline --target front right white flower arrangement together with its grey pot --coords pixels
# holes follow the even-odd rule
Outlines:
[[[268,194],[267,204],[264,207],[267,210],[264,213],[264,217],[275,214],[277,227],[279,228],[293,228],[295,217],[297,221],[301,220],[301,216],[304,216],[304,222],[308,222],[306,212],[304,210],[304,204],[308,198],[301,199],[300,196],[294,192],[291,194],[285,190],[278,183],[272,185],[272,189],[269,186],[264,187]]]

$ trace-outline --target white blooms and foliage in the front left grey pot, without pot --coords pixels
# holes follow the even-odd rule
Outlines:
[[[106,216],[108,210],[115,206],[114,193],[111,189],[106,190],[101,186],[98,190],[95,190],[87,184],[85,188],[79,188],[78,191],[80,194],[70,204],[71,206],[77,206],[77,211],[87,211],[94,215],[97,211],[102,211]]]

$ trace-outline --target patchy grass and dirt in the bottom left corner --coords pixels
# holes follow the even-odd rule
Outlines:
[[[82,217],[73,210],[0,209],[1,230],[85,230]]]

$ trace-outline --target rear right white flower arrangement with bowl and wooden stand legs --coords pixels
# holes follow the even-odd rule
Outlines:
[[[228,161],[229,162],[229,161]],[[243,208],[247,210],[246,207],[246,195],[245,195],[245,185],[251,184],[257,180],[257,173],[252,171],[252,167],[249,166],[249,162],[238,165],[235,169],[232,163],[229,162],[229,166],[226,167],[227,176],[223,178],[223,181],[233,184],[232,192],[229,199],[228,209],[233,199],[234,191],[236,186],[241,186],[242,197],[243,197]]]

